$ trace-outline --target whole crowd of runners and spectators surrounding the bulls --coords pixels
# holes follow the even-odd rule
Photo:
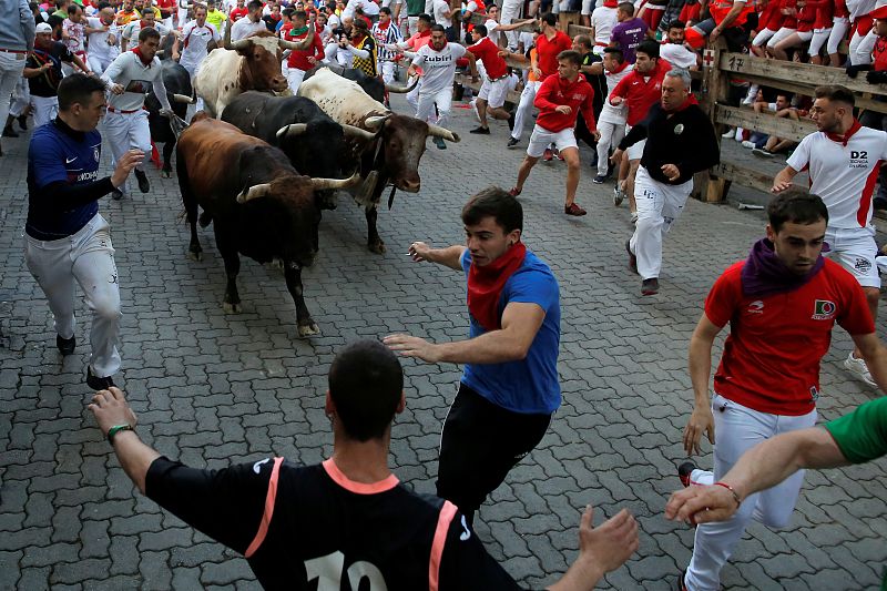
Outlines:
[[[700,64],[700,40],[723,35],[740,50],[767,51],[774,59],[799,53],[797,45],[807,41],[820,51],[833,49],[838,19],[848,17],[833,10],[834,26],[825,35],[828,19],[819,19],[818,8],[810,9],[813,20],[807,18],[813,2],[797,4],[792,0],[791,7],[771,11],[784,17],[771,20],[767,4],[742,0],[707,7],[648,2],[640,11],[632,2],[592,6],[589,0],[582,13],[591,33],[570,38],[553,13],[520,20],[522,7],[509,1],[501,14],[480,0],[453,14],[446,0],[388,6],[373,0],[319,6],[123,0],[85,7],[57,0],[51,12],[21,0],[18,11],[0,16],[6,19],[0,22],[0,121],[4,135],[14,137],[14,124],[24,130],[30,110],[35,126],[28,152],[26,259],[52,310],[62,355],[77,347],[74,283],[84,291],[93,312],[85,379],[99,390],[90,408],[126,473],[161,506],[242,552],[267,587],[316,578],[338,584],[347,577],[357,581],[353,588],[364,579],[398,588],[513,588],[478,542],[472,523],[488,496],[540,442],[561,401],[558,282],[521,242],[518,196],[540,159],[558,157],[567,166],[564,214],[585,215],[577,192],[578,141],[587,142],[593,147],[593,182],[602,184],[615,173],[614,203],[629,201],[635,228],[624,246],[629,267],[641,277],[641,294],[659,293],[662,241],[684,207],[693,175],[718,161],[714,128],[692,92],[690,70]],[[850,73],[865,68],[859,55],[881,31],[880,19],[887,22],[887,13],[878,10],[867,13],[875,22],[870,30],[860,30],[860,17],[849,14],[855,19]],[[475,23],[475,14],[486,21]],[[767,24],[761,29],[758,22]],[[823,27],[804,31],[801,22]],[[789,24],[794,29],[783,32]],[[196,77],[223,38],[236,42],[259,31],[286,41],[313,35],[309,47],[284,53],[282,71],[293,93],[322,63],[386,82],[402,70],[418,78],[407,95],[416,116],[446,126],[461,64],[472,79],[482,78],[471,101],[478,118],[472,134],[491,135],[490,119],[507,121],[503,147],[514,147],[526,124],[536,121],[513,187],[482,190],[462,210],[467,244],[436,248],[415,242],[409,248],[416,262],[466,275],[469,338],[430,343],[400,334],[346,347],[329,373],[325,408],[335,434],[329,460],[299,468],[275,458],[210,472],[143,445],[114,385],[121,367],[120,292],[110,227],[98,201],[130,195],[131,174],[142,193],[151,190],[149,90],[161,114],[173,118],[157,67],[161,45]],[[755,45],[767,31],[773,31],[769,40]],[[880,47],[878,41],[868,51],[873,74],[879,72]],[[825,63],[825,57],[813,58]],[[828,60],[836,64],[830,53]],[[516,72],[509,63],[526,68]],[[511,90],[520,90],[520,99],[510,111]],[[803,104],[785,94],[771,103],[764,89],[744,92],[752,91],[756,111],[797,119],[807,110],[819,131],[797,145],[731,131],[763,157],[793,152],[774,180],[767,237],[714,284],[690,345],[694,408],[684,448],[689,456],[697,454],[707,436],[715,461],[712,471],[690,462],[679,469],[689,488],[673,496],[666,514],[699,526],[692,560],[679,579],[681,588],[694,591],[718,588],[721,569],[752,518],[774,527],[787,522],[803,481],[794,468],[860,462],[887,452],[887,408],[880,400],[829,424],[834,445],[823,442],[820,430],[810,430],[819,360],[836,323],[856,345],[847,369],[887,388],[887,351],[875,334],[880,278],[870,225],[871,179],[887,160],[887,133],[861,125],[854,94],[843,86],[822,86]],[[112,152],[109,176],[99,173],[103,136]],[[446,147],[442,140],[436,143]],[[801,171],[810,175],[810,194],[791,191]],[[823,257],[826,242],[828,258]],[[710,397],[712,346],[727,324],[731,335]],[[391,420],[406,404],[397,355],[465,364],[442,427],[437,497],[400,487],[388,469]],[[750,466],[744,458],[761,458],[762,447],[795,463]],[[278,496],[286,502],[278,503]],[[341,507],[349,510],[338,511]],[[220,521],[222,513],[234,517]],[[298,529],[306,523],[323,532],[323,548],[299,541]],[[593,528],[589,508],[580,523],[579,558],[552,589],[590,589],[636,547],[638,527],[628,511]],[[292,556],[299,560],[288,560]]]

